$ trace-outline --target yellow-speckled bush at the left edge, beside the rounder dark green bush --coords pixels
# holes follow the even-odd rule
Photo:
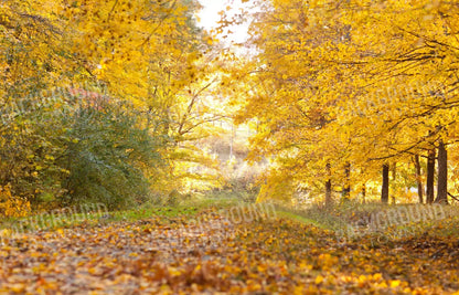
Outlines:
[[[54,103],[39,93],[18,93],[0,109],[0,185],[9,183],[14,196],[33,208],[42,199],[65,193],[61,180],[67,175],[56,159],[65,150],[66,127],[60,123],[61,112],[52,110]]]

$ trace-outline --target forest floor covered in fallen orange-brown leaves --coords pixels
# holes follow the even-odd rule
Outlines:
[[[451,212],[413,231],[409,221],[339,234],[318,218],[269,210],[162,208],[4,229],[0,294],[459,294]],[[355,231],[369,228],[352,223],[362,212],[345,217]]]

